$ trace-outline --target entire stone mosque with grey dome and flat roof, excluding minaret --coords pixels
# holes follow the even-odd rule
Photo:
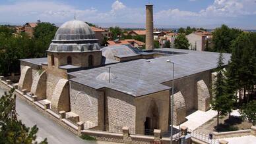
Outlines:
[[[150,47],[152,48],[152,47]],[[90,26],[79,20],[57,30],[47,58],[20,60],[18,89],[84,129],[131,133],[168,131],[172,64],[174,124],[191,110],[209,109],[212,70],[218,53],[181,49],[142,51],[131,45],[100,48]],[[227,64],[230,55],[224,54]]]

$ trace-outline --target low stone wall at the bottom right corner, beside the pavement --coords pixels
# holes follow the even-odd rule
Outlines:
[[[252,126],[249,130],[238,130],[232,132],[213,132],[212,133],[214,139],[222,139],[228,137],[241,137],[245,135],[254,135],[256,136],[256,126]]]

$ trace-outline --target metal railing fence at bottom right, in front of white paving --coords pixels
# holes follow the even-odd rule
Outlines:
[[[212,139],[210,135],[207,135],[205,133],[197,132],[195,130],[189,130],[188,133],[190,133],[191,137],[195,137],[196,139],[204,141],[205,143],[219,144],[219,141],[217,139]]]

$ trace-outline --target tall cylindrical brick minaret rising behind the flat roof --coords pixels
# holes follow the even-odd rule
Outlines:
[[[153,5],[146,5],[146,50],[154,49]]]

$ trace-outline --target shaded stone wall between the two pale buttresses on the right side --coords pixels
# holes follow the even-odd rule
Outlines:
[[[187,112],[197,109],[197,82],[199,80],[204,80],[207,87],[210,87],[210,70],[174,80],[174,93],[181,91],[185,99]],[[164,85],[172,87],[172,81],[166,82]]]

